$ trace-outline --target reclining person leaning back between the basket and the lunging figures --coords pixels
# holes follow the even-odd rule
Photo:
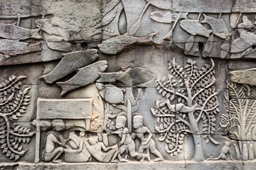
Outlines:
[[[80,132],[80,138],[87,147],[87,150],[92,154],[92,157],[97,159],[97,161],[104,163],[114,162],[114,159],[117,158],[117,145],[106,147],[103,142],[99,142],[97,136],[86,138],[85,132]],[[80,147],[77,152],[82,152],[82,147]]]

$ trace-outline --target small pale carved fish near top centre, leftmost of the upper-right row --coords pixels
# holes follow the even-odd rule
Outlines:
[[[178,13],[170,12],[160,12],[154,11],[150,13],[150,18],[159,23],[171,23],[176,21],[176,19],[187,19],[188,13],[181,13],[180,18],[178,18]]]

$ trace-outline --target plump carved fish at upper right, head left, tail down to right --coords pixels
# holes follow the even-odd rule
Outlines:
[[[202,35],[207,38],[210,36],[210,33],[213,32],[213,30],[204,28],[201,23],[198,23],[197,20],[182,20],[180,26],[183,30],[191,35]]]

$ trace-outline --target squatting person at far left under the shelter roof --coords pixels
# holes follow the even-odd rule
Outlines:
[[[52,125],[55,131],[50,131],[46,135],[43,145],[43,160],[45,162],[61,163],[62,160],[58,158],[63,154],[67,140],[60,132],[65,130],[65,123],[63,120],[55,119],[52,121]]]

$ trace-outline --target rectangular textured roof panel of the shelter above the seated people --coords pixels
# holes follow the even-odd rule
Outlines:
[[[83,119],[92,115],[93,98],[49,99],[38,98],[38,119]]]

